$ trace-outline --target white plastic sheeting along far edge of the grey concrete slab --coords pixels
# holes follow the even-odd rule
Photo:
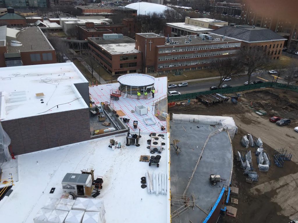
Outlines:
[[[238,130],[232,117],[227,116],[210,116],[210,115],[195,115],[195,114],[173,114],[173,122],[185,122],[185,123],[200,123],[216,125],[220,127],[227,127],[228,134],[231,139],[234,138],[236,130]]]

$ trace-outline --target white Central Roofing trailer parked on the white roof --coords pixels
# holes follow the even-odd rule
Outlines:
[[[75,196],[91,197],[94,186],[90,174],[67,173],[62,180],[64,193]]]

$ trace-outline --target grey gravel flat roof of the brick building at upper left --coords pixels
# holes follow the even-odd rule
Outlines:
[[[22,45],[11,46],[10,43],[8,43],[7,53],[17,53],[18,50],[21,52],[54,50],[44,33],[36,26],[28,27],[19,32],[16,40],[21,42]]]

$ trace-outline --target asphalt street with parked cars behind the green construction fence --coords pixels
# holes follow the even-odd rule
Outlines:
[[[271,74],[264,74],[262,76],[258,76],[257,74],[253,74],[252,77],[251,77],[251,82],[253,82],[255,80],[260,80],[260,81],[264,81],[264,82],[268,82],[268,81],[271,82],[273,78],[274,77]],[[231,85],[232,87],[237,87],[237,86],[244,85],[244,82],[246,82],[246,81],[248,81],[247,76],[234,77],[234,78],[232,78],[231,81],[225,81],[221,85],[228,84],[228,85]],[[284,83],[283,78],[279,78],[278,82]],[[178,91],[181,94],[186,94],[186,93],[193,93],[193,92],[199,92],[199,91],[207,91],[207,90],[210,90],[209,88],[211,86],[218,86],[218,84],[219,84],[219,81],[210,81],[210,82],[197,83],[197,84],[192,84],[192,82],[189,82],[187,87],[176,87],[176,88],[171,88],[171,89],[168,89],[168,90]]]

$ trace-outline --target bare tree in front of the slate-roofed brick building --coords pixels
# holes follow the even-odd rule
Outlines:
[[[262,70],[271,66],[270,56],[262,47],[243,47],[240,50],[239,60],[247,72],[248,82],[250,82],[253,73],[263,72]]]

